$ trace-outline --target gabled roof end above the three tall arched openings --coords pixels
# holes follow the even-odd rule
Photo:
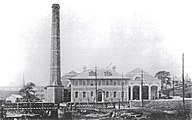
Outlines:
[[[140,79],[136,79],[136,77],[141,78],[142,72],[143,72],[144,81],[159,80],[159,79],[153,77],[152,75],[148,74],[147,72],[143,71],[140,68],[136,68],[136,69],[132,70],[131,72],[127,73],[125,76],[129,77],[130,80],[140,80]]]

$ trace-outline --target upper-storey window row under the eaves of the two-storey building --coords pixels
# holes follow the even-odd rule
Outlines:
[[[127,85],[127,80],[72,80],[72,85],[74,86],[81,86],[81,85],[88,85],[94,86],[97,83],[98,86],[101,85]]]

